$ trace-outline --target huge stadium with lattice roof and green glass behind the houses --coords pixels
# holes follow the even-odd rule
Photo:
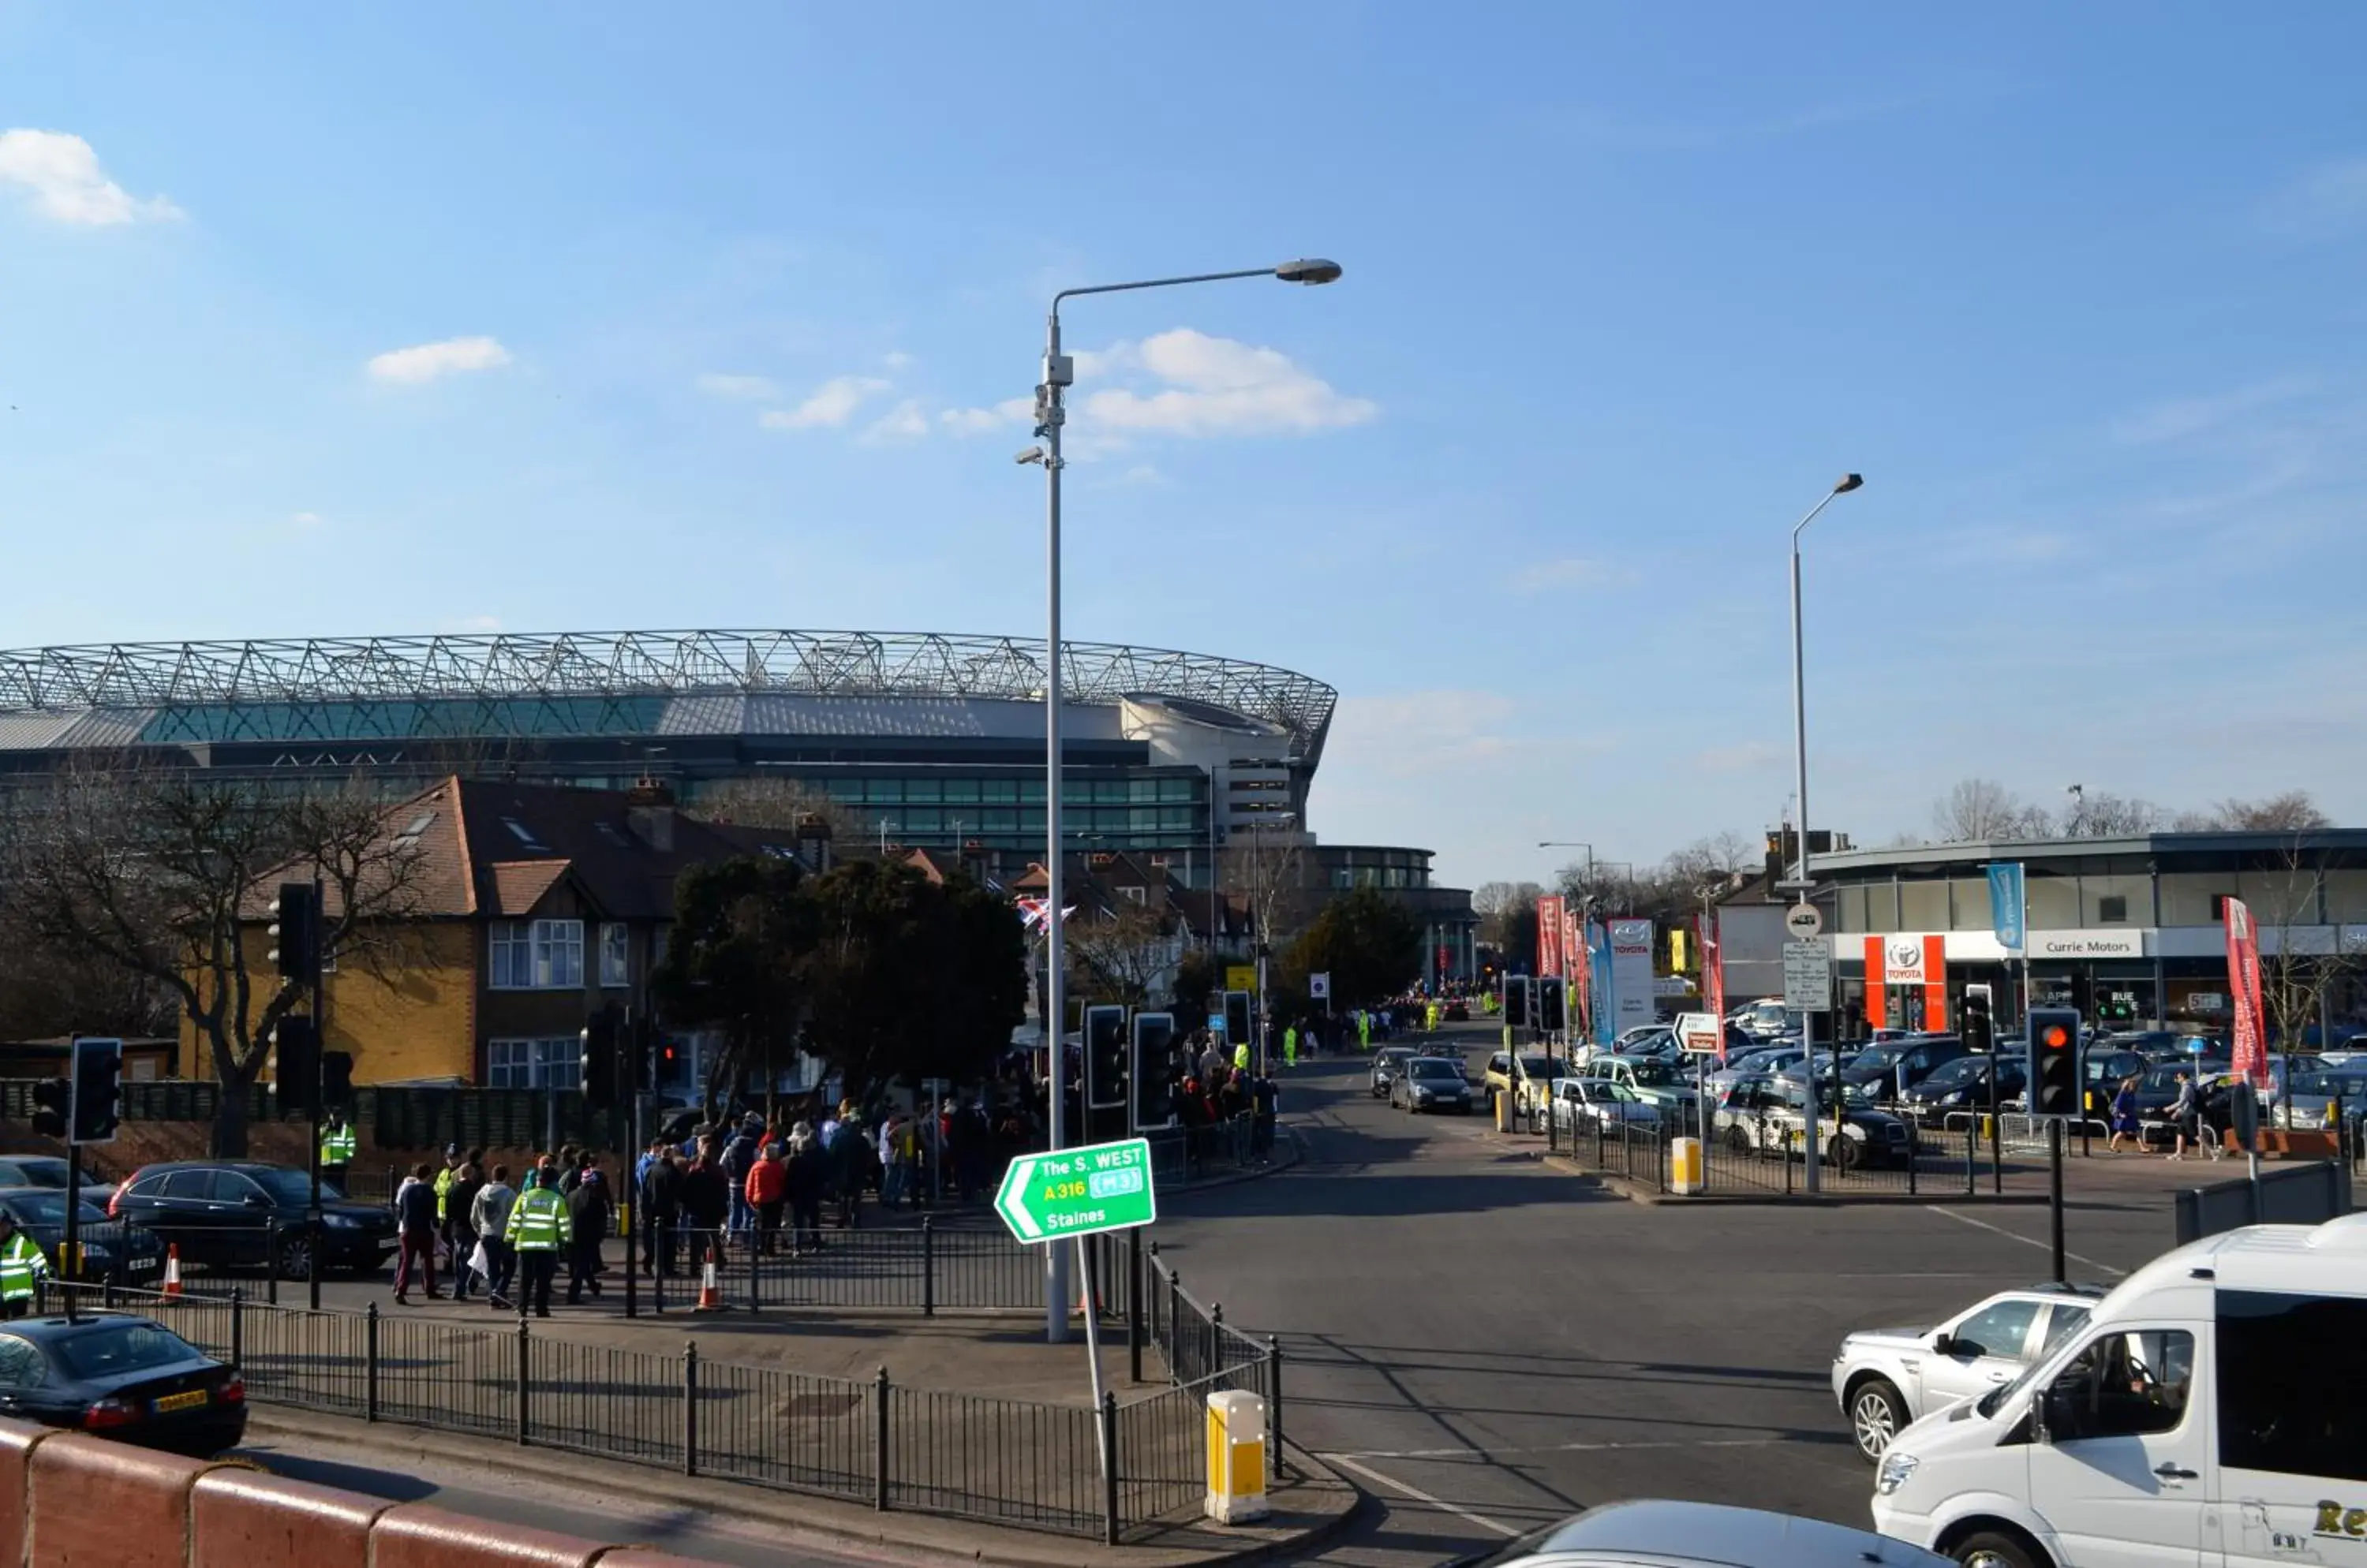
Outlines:
[[[1063,643],[1063,835],[1207,887],[1243,832],[1307,835],[1337,693],[1245,660]],[[1044,641],[911,631],[568,631],[109,643],[0,653],[0,778],[159,762],[249,778],[450,771],[828,795],[881,842],[1044,847]],[[1430,851],[1314,844],[1311,880],[1399,889],[1465,967]]]

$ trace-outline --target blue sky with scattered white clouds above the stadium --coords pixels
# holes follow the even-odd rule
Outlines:
[[[0,0],[0,646],[1065,629],[1437,877],[2367,823],[2367,7]]]

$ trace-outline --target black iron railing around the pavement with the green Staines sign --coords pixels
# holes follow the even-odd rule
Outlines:
[[[914,1242],[866,1237],[838,1256],[857,1275],[909,1275]],[[947,1242],[940,1235],[933,1246],[947,1263],[940,1279],[949,1294],[970,1279],[973,1296],[1025,1294],[1023,1305],[1041,1303],[1041,1253],[999,1239],[1015,1263],[997,1263],[992,1237]],[[717,1362],[696,1343],[679,1355],[594,1346],[535,1331],[523,1317],[473,1329],[381,1315],[376,1305],[310,1313],[213,1284],[180,1296],[43,1289],[71,1289],[88,1305],[168,1324],[237,1365],[251,1398],[265,1402],[1115,1544],[1198,1509],[1210,1393],[1264,1393],[1278,1452],[1281,1353],[1226,1329],[1221,1308],[1202,1310],[1172,1270],[1122,1237],[1098,1251],[1094,1268],[1136,1372],[1141,1350],[1155,1348],[1172,1386],[1129,1402],[1105,1393],[1101,1407],[1049,1405],[909,1388],[885,1367],[871,1379],[833,1379]],[[925,1310],[925,1298],[897,1301]]]

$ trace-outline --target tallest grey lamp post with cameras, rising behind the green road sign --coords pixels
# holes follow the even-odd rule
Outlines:
[[[1068,409],[1060,393],[1075,385],[1077,364],[1060,352],[1060,303],[1086,293],[1134,293],[1136,289],[1176,289],[1181,284],[1226,284],[1240,277],[1273,277],[1285,284],[1330,284],[1340,263],[1304,258],[1281,267],[1245,267],[1240,272],[1195,272],[1191,277],[1153,277],[1139,284],[1096,284],[1063,289],[1051,296],[1044,317],[1044,378],[1037,383],[1037,440],[1018,454],[1020,464],[1044,464],[1044,1038],[1051,1060],[1051,1147],[1068,1142],[1068,1050],[1060,1041],[1063,996],[1060,967],[1060,426]],[[1210,799],[1214,814],[1217,802]],[[1068,1251],[1044,1249],[1044,1339],[1068,1339]]]

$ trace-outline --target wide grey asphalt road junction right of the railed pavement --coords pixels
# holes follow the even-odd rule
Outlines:
[[[1628,1204],[1479,1116],[1382,1107],[1363,1062],[1302,1064],[1283,1109],[1304,1164],[1174,1199],[1157,1237],[1193,1296],[1281,1336],[1288,1436],[1382,1502],[1328,1563],[1437,1563],[1619,1497],[1863,1525],[1842,1334],[2047,1272],[2043,1206]],[[2152,1194],[2069,1218],[2076,1279],[2168,1244]]]

